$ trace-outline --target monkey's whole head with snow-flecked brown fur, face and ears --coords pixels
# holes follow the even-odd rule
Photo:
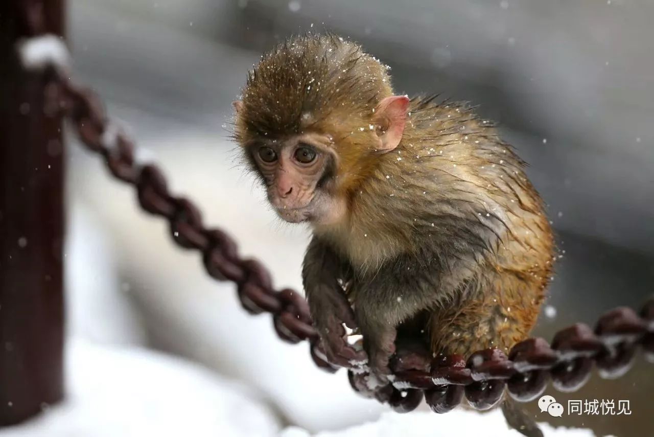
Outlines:
[[[349,196],[395,149],[409,99],[388,67],[334,35],[279,44],[249,72],[235,139],[281,218],[338,222]]]

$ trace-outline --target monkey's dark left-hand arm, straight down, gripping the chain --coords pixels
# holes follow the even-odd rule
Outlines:
[[[343,323],[354,329],[356,322],[338,279],[347,281],[350,276],[349,266],[328,245],[313,237],[302,266],[304,290],[328,360],[345,367],[366,359],[364,351],[355,350],[345,338]]]

